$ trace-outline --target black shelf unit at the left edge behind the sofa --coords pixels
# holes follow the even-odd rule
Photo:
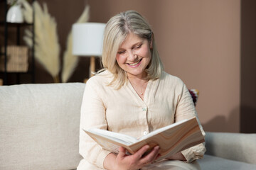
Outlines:
[[[33,3],[32,0],[31,3]],[[6,16],[7,16],[7,11],[8,11],[8,5],[7,5],[7,0],[1,0],[0,1],[3,7],[4,7],[4,21],[0,21],[0,27],[4,27],[4,45],[0,43],[1,46],[4,46],[4,52],[1,52],[0,55],[4,56],[4,72],[0,72],[0,76],[3,77],[4,85],[11,85],[9,84],[9,76],[11,74],[16,75],[16,83],[15,84],[20,84],[20,77],[21,74],[30,74],[31,75],[31,83],[35,83],[35,34],[34,34],[34,16],[35,13],[33,11],[33,22],[32,23],[7,23],[6,21]],[[29,52],[29,57],[31,58],[29,64],[28,64],[28,71],[27,72],[8,72],[7,71],[7,46],[8,46],[8,38],[9,38],[9,28],[16,28],[16,45],[21,45],[21,28],[22,27],[31,27],[32,33],[33,33],[33,45],[31,48],[31,52]]]

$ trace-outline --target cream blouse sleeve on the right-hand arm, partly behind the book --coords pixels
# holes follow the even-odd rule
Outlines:
[[[183,84],[180,94],[178,95],[178,101],[177,101],[176,113],[175,113],[175,122],[178,122],[180,120],[187,119],[187,118],[192,118],[193,116],[196,116],[196,119],[198,120],[198,115],[196,113],[196,108],[193,104],[191,94],[189,93],[185,84]],[[203,136],[205,136],[206,133],[203,131],[203,128],[199,120],[198,120],[198,124]],[[187,162],[193,162],[193,160],[195,159],[203,158],[203,155],[205,152],[206,152],[206,147],[204,143],[201,143],[199,145],[185,149],[181,153],[186,158]]]

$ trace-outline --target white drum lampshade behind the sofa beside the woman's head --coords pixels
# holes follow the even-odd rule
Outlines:
[[[73,55],[101,56],[105,26],[105,23],[73,24]]]

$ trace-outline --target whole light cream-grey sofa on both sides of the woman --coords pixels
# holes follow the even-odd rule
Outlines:
[[[0,169],[69,170],[85,84],[0,86]],[[202,169],[256,169],[256,134],[206,132]]]

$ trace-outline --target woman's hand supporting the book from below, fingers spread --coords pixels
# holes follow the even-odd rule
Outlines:
[[[118,170],[136,170],[141,169],[147,164],[151,164],[159,158],[159,146],[143,156],[143,154],[149,149],[149,145],[145,145],[139,149],[135,154],[127,155],[124,147],[119,148],[119,154],[108,154],[104,161],[105,169],[118,169]]]

